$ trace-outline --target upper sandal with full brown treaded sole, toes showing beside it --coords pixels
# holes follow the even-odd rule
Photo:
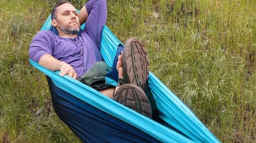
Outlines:
[[[158,118],[156,101],[148,85],[149,60],[144,45],[138,39],[129,39],[123,47],[123,79],[119,82],[134,84],[146,93],[151,106],[152,119]]]

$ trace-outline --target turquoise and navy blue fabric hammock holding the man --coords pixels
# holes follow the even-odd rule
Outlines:
[[[84,25],[81,25],[81,29]],[[41,30],[52,30],[51,15]],[[120,41],[104,26],[101,54],[112,67]],[[158,105],[159,119],[149,119],[59,71],[50,71],[30,59],[47,75],[57,116],[82,142],[219,142],[194,113],[154,74],[149,87]],[[115,82],[114,82],[115,83]]]

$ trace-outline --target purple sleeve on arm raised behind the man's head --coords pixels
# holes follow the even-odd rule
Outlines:
[[[106,0],[90,0],[85,4],[88,18],[84,31],[96,42],[100,49],[102,29],[107,19]]]

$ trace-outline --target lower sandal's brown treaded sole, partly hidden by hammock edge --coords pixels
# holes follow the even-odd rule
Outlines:
[[[145,92],[136,85],[124,84],[117,89],[113,99],[140,114],[152,118],[151,105]]]

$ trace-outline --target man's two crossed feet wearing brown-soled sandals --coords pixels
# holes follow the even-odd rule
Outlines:
[[[138,39],[130,39],[118,56],[117,71],[121,84],[113,99],[127,107],[156,119],[157,105],[148,86],[149,61],[144,45]],[[121,79],[121,80],[120,80]]]

